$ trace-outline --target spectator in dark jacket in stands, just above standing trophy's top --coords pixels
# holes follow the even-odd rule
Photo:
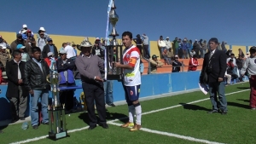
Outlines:
[[[58,50],[55,47],[55,44],[53,43],[51,38],[47,39],[47,42],[48,42],[48,44],[46,44],[44,46],[44,49],[43,49],[43,52],[42,52],[43,58],[47,58],[47,54],[49,52],[52,52],[55,59],[57,59],[58,58]]]

